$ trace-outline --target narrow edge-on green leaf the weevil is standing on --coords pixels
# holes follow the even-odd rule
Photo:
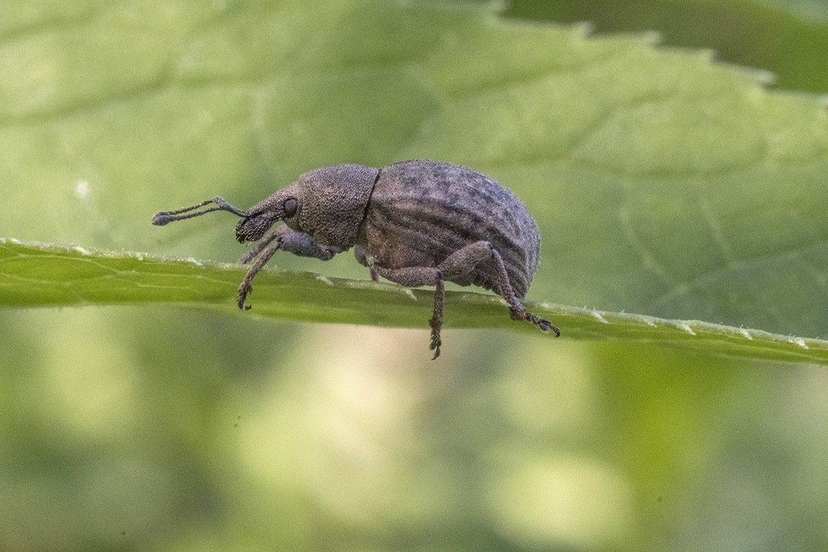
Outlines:
[[[0,306],[169,303],[239,312],[235,290],[246,268],[156,257],[88,252],[81,247],[0,240]],[[310,322],[424,328],[431,290],[350,281],[306,272],[266,271],[256,278],[255,313]],[[508,318],[494,295],[449,291],[446,327],[534,331]],[[757,358],[828,362],[828,341],[792,338],[697,320],[657,319],[561,305],[528,304],[566,328],[567,338],[662,343]]]

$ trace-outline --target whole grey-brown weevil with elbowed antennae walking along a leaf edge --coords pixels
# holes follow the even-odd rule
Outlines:
[[[195,210],[207,204],[215,206]],[[161,211],[152,223],[163,226],[213,211],[241,217],[238,242],[261,240],[239,261],[259,257],[238,287],[242,310],[250,308],[245,301],[253,277],[278,250],[328,261],[354,247],[357,262],[370,269],[373,281],[383,276],[402,286],[436,286],[429,320],[434,358],[442,344],[444,281],[493,290],[506,300],[513,320],[528,320],[561,335],[519,301],[541,255],[535,219],[511,190],[468,167],[428,160],[382,169],[326,166],[300,175],[247,211],[216,197]],[[265,236],[280,220],[285,224]]]

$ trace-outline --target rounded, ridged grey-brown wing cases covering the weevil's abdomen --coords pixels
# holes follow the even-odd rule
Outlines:
[[[520,298],[541,255],[537,223],[511,190],[476,170],[436,161],[401,161],[380,170],[366,233],[368,254],[389,268],[439,266],[470,243],[489,242]],[[497,291],[489,264],[450,281]]]

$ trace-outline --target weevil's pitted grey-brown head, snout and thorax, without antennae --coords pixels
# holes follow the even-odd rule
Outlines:
[[[283,220],[320,245],[347,249],[354,245],[378,174],[361,165],[310,170],[250,209],[236,225],[236,239],[256,241]]]

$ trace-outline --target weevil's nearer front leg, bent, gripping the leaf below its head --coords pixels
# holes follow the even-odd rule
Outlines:
[[[296,232],[296,230],[282,224],[282,226],[279,226],[272,233],[269,233],[267,236],[262,238],[262,240],[260,240],[256,245],[251,247],[247,253],[244,254],[244,257],[239,259],[238,262],[246,264],[253,261],[259,253],[262,255],[258,258],[258,261],[250,267],[250,270],[244,276],[242,285],[238,286],[239,309],[250,310],[250,305],[245,305],[244,303],[248,298],[248,294],[253,291],[253,286],[251,286],[253,278],[258,274],[258,271],[261,271],[267,262],[270,261],[270,257],[273,257],[273,254],[280,250],[293,253],[299,257],[313,257],[322,261],[330,261],[330,259],[339,252],[336,247],[320,246],[307,234]]]

